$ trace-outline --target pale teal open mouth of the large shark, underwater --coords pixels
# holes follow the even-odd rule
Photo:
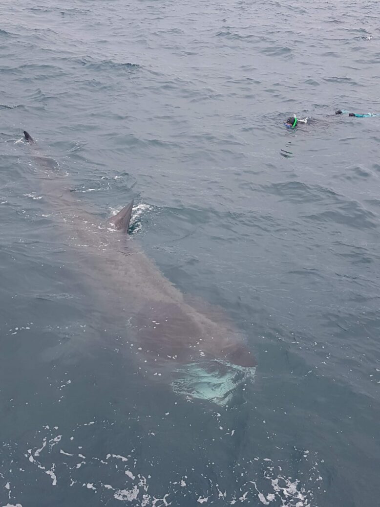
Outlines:
[[[171,385],[177,394],[226,405],[239,385],[253,381],[255,371],[216,359],[198,361],[174,370]]]

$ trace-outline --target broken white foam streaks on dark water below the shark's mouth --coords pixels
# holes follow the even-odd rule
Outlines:
[[[228,427],[229,423],[224,420],[222,413],[214,414],[216,427],[222,427],[225,436],[231,436],[232,430]],[[96,421],[91,421],[97,424]],[[102,421],[102,427],[105,421]],[[89,423],[82,424],[82,428]],[[291,477],[285,470],[288,469],[286,461],[276,461],[274,457],[253,456],[249,461],[237,466],[236,477],[243,478],[234,486],[229,483],[230,490],[224,482],[224,474],[218,472],[215,463],[212,463],[213,473],[211,476],[204,471],[197,472],[195,467],[188,465],[189,474],[176,476],[173,471],[168,476],[168,482],[165,486],[164,495],[157,495],[154,486],[151,483],[151,476],[142,474],[140,465],[146,470],[146,462],[142,459],[141,463],[135,455],[135,449],[130,448],[128,454],[108,452],[100,456],[91,454],[91,447],[79,445],[79,434],[75,438],[76,444],[71,440],[72,431],[78,431],[80,427],[71,429],[67,437],[61,434],[54,434],[55,429],[45,426],[40,432],[41,444],[33,451],[29,449],[25,454],[28,457],[30,466],[35,466],[44,474],[47,474],[56,486],[70,488],[85,487],[94,495],[93,502],[107,504],[110,498],[121,502],[132,502],[136,507],[166,507],[174,503],[181,503],[181,498],[192,498],[196,504],[211,504],[221,499],[223,503],[235,504],[257,504],[270,505],[272,507],[315,507],[314,491],[320,489],[322,475],[318,469],[319,460],[316,454],[308,449],[299,449],[299,475]],[[96,428],[95,428],[96,430]],[[147,431],[152,433],[152,431]],[[147,437],[148,438],[148,437]],[[62,442],[65,451],[52,446]],[[75,450],[81,449],[81,454]],[[68,452],[67,452],[68,451]],[[122,451],[122,452],[123,452]],[[83,454],[82,454],[83,453]],[[86,461],[75,463],[68,460],[66,456],[78,455],[82,458],[87,456]],[[54,460],[52,459],[54,456]],[[159,458],[157,458],[159,459]],[[320,460],[322,463],[323,460]],[[101,467],[99,468],[101,463]],[[157,464],[159,461],[157,462]],[[82,465],[86,464],[86,469],[82,471]],[[156,464],[156,465],[157,465]],[[292,467],[291,467],[292,469]],[[94,470],[94,476],[91,477],[91,470]],[[154,468],[152,468],[154,472]],[[26,470],[27,472],[27,470]],[[100,472],[100,475],[99,475]],[[170,474],[170,473],[169,473]],[[153,475],[153,474],[152,474]],[[124,479],[123,479],[124,478]],[[157,479],[157,478],[155,478]],[[206,490],[199,490],[200,481],[207,480]],[[223,488],[220,485],[223,484]],[[9,486],[10,488],[10,486]],[[164,490],[165,491],[165,490]],[[10,497],[10,499],[13,499]]]

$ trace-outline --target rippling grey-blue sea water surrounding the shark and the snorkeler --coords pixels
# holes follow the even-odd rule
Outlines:
[[[2,2],[2,506],[378,503],[380,119],[333,112],[380,112],[379,37],[375,1]],[[229,405],[138,375],[25,128],[245,334]]]

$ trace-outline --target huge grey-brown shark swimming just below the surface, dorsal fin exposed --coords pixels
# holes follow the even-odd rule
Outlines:
[[[24,135],[35,146],[31,136]],[[35,160],[46,159],[37,156]],[[144,255],[135,239],[126,237],[133,201],[99,226],[94,224],[94,215],[79,214],[80,199],[73,192],[62,191],[57,171],[42,165],[45,193],[56,208],[53,214],[69,228],[69,237],[75,233],[75,248],[79,248],[78,242],[83,245],[83,270],[93,271],[89,278],[94,279],[94,273],[97,279],[101,276],[107,312],[128,323],[127,335],[139,368],[151,376],[160,372],[162,380],[172,382],[174,390],[182,394],[215,401],[213,392],[218,390],[221,400],[230,399],[236,378],[253,377],[256,360],[223,310],[187,300]],[[202,378],[198,383],[197,377]],[[204,384],[211,378],[212,392],[206,392]]]

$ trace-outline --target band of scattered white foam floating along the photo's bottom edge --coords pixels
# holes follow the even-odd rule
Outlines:
[[[218,413],[217,421],[223,424],[220,418]],[[5,444],[0,457],[7,472],[0,475],[5,484],[9,484],[9,500],[17,502],[29,497],[31,485],[37,481],[39,488],[58,486],[59,494],[65,496],[68,488],[73,495],[78,488],[86,488],[93,495],[90,501],[99,505],[107,505],[115,499],[139,507],[182,503],[257,505],[257,502],[271,507],[316,506],[315,493],[322,484],[319,466],[323,460],[309,450],[296,449],[299,451],[297,472],[287,460],[256,456],[235,463],[233,480],[226,481],[226,471],[220,470],[217,462],[211,462],[210,456],[205,456],[209,472],[205,472],[204,467],[197,469],[197,465],[189,462],[186,475],[168,469],[167,482],[158,486],[155,478],[157,467],[161,466],[161,455],[141,456],[132,444],[125,442],[119,444],[123,448],[120,452],[114,442],[109,444],[108,452],[104,448],[104,453],[94,455],[91,447],[94,434],[112,430],[113,424],[105,420],[89,421],[66,431],[66,434],[62,434],[57,426],[46,425],[35,433],[34,447],[22,450]],[[141,435],[141,439],[144,438],[159,439],[160,435],[149,432],[145,437]],[[20,459],[20,452],[24,460]],[[11,465],[16,462],[22,462],[24,468]],[[289,470],[293,472],[289,473]],[[39,474],[49,476],[49,481],[43,480]],[[17,487],[11,487],[14,484]]]

